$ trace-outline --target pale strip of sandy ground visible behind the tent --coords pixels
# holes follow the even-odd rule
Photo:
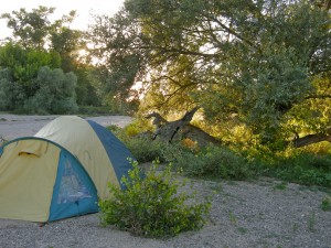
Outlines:
[[[55,119],[57,116],[17,116],[0,115],[0,138],[11,140],[19,137],[34,136],[43,126]],[[116,125],[125,127],[131,120],[127,116],[99,116],[87,117],[99,125]]]

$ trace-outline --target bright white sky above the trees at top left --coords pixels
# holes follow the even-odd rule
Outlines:
[[[85,30],[92,21],[89,13],[113,15],[116,13],[125,0],[0,0],[0,14],[11,13],[13,10],[25,8],[26,11],[36,9],[39,6],[55,7],[52,14],[54,19],[68,14],[76,10],[77,18],[71,25],[73,29]],[[0,40],[9,36],[11,31],[7,28],[7,22],[0,19]]]

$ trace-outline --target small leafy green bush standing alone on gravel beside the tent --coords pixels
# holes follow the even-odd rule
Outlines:
[[[147,237],[175,236],[185,230],[200,229],[210,203],[188,204],[194,195],[180,193],[182,183],[171,180],[170,166],[157,173],[156,168],[141,176],[138,164],[121,182],[126,190],[109,184],[111,196],[100,200],[102,223]]]

